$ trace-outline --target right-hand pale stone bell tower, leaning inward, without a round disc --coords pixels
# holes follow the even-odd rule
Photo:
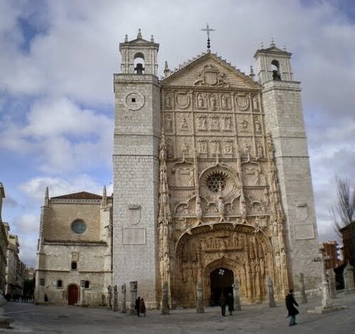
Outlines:
[[[303,120],[300,82],[293,80],[291,55],[271,41],[269,48],[256,51],[258,80],[266,127],[275,146],[275,165],[285,213],[285,237],[288,241],[290,286],[297,288],[300,273],[306,289],[319,284],[320,265],[312,262],[318,254],[315,203]]]

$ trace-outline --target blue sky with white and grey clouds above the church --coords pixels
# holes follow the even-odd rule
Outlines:
[[[0,182],[3,220],[35,264],[40,205],[50,196],[111,190],[114,92],[125,34],[154,35],[159,72],[206,50],[249,73],[261,45],[286,44],[302,82],[320,239],[334,176],[355,179],[355,4],[352,0],[1,0]]]

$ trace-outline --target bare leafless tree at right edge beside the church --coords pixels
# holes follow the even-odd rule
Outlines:
[[[337,183],[337,200],[330,206],[329,215],[333,221],[335,232],[339,236],[342,227],[349,225],[355,217],[355,188],[346,179],[335,177]]]

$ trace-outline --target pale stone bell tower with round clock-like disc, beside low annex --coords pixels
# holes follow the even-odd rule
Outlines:
[[[127,36],[114,74],[113,284],[138,282],[147,307],[156,299],[160,140],[159,44]]]

